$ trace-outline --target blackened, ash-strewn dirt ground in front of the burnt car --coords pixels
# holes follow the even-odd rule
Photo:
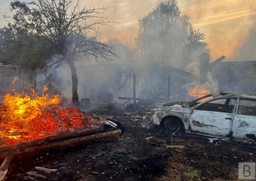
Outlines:
[[[238,162],[255,162],[252,146],[183,134],[177,137],[160,128],[143,128],[151,108],[140,111],[109,105],[93,113],[113,115],[125,131],[122,137],[93,142],[41,155],[24,155],[11,161],[6,181],[46,180],[26,175],[28,171],[47,176],[47,180],[238,180]],[[147,138],[147,139],[146,139]],[[167,145],[184,145],[170,149]],[[35,170],[35,166],[58,169],[53,174]]]

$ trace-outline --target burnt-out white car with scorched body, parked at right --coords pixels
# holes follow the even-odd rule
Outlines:
[[[185,131],[256,141],[256,95],[216,92],[192,102],[176,103],[156,109],[152,123],[163,125],[170,133]]]

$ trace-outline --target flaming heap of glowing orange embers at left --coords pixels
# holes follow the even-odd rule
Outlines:
[[[63,107],[59,95],[49,98],[47,87],[43,95],[6,94],[0,104],[0,146],[75,132],[100,124],[90,115],[74,107]]]

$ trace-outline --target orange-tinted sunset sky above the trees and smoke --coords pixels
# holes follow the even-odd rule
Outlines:
[[[28,2],[28,0],[23,0]],[[73,0],[75,1],[75,0]],[[104,16],[118,22],[101,27],[102,40],[118,39],[134,43],[138,35],[138,20],[151,12],[159,0],[80,0],[81,6],[104,7]],[[6,22],[3,15],[11,15],[11,0],[0,0],[0,27]],[[182,15],[188,15],[195,29],[206,35],[213,60],[239,56],[240,48],[256,29],[255,0],[177,0]]]

